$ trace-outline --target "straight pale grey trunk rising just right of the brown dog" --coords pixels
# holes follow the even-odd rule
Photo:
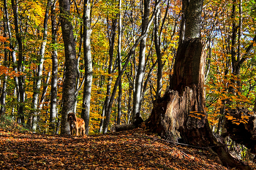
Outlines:
[[[81,117],[86,123],[86,134],[89,134],[92,61],[91,61],[91,0],[84,1],[83,7],[83,56],[85,66],[85,82],[83,86],[83,109]]]

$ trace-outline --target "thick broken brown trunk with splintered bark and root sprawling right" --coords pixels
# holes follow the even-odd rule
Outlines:
[[[224,166],[246,169],[217,142],[205,112],[204,71],[206,53],[200,39],[188,39],[178,47],[170,90],[154,101],[148,128],[162,137],[211,147]]]

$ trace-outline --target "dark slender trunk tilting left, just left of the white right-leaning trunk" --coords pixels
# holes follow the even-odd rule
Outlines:
[[[12,0],[12,11],[14,15],[14,23],[15,23],[15,34],[16,34],[16,39],[18,42],[18,72],[22,72],[22,67],[23,67],[23,44],[22,44],[22,38],[21,38],[21,32],[19,31],[19,20],[18,20],[18,1]],[[16,62],[16,61],[14,61]],[[24,101],[25,101],[25,90],[24,90],[24,80],[23,76],[18,77],[18,122],[21,123],[22,125],[25,125],[25,117],[24,117]]]

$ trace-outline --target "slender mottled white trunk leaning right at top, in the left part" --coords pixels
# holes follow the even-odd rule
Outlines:
[[[39,56],[37,58],[37,63],[39,63],[38,68],[37,68],[37,79],[36,79],[36,86],[34,87],[34,94],[33,94],[33,118],[32,118],[32,131],[37,130],[37,116],[38,116],[38,101],[39,101],[39,92],[41,88],[41,82],[42,82],[42,69],[43,69],[43,64],[45,61],[45,47],[46,47],[46,42],[47,42],[47,34],[48,34],[48,18],[49,18],[49,11],[50,11],[50,0],[47,2],[47,6],[45,9],[45,20],[44,20],[44,25],[43,25],[43,35],[42,35],[42,45],[39,51]]]

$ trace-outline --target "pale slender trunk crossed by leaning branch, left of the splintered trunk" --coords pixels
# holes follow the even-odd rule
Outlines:
[[[144,0],[144,14],[142,20],[142,33],[146,32],[146,28],[148,26],[148,18],[149,18],[149,5],[150,1]],[[145,67],[145,53],[146,53],[146,37],[140,41],[140,54],[139,54],[139,63],[138,63],[138,72],[136,74],[135,80],[135,93],[133,94],[133,109],[132,109],[132,117],[136,115],[136,113],[140,113],[140,97],[143,86],[143,77],[144,77],[144,67]]]

